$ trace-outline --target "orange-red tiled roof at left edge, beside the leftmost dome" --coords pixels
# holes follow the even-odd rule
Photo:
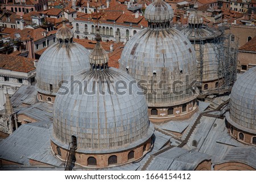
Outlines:
[[[1,69],[28,73],[35,70],[34,61],[35,59],[27,57],[0,54]]]

